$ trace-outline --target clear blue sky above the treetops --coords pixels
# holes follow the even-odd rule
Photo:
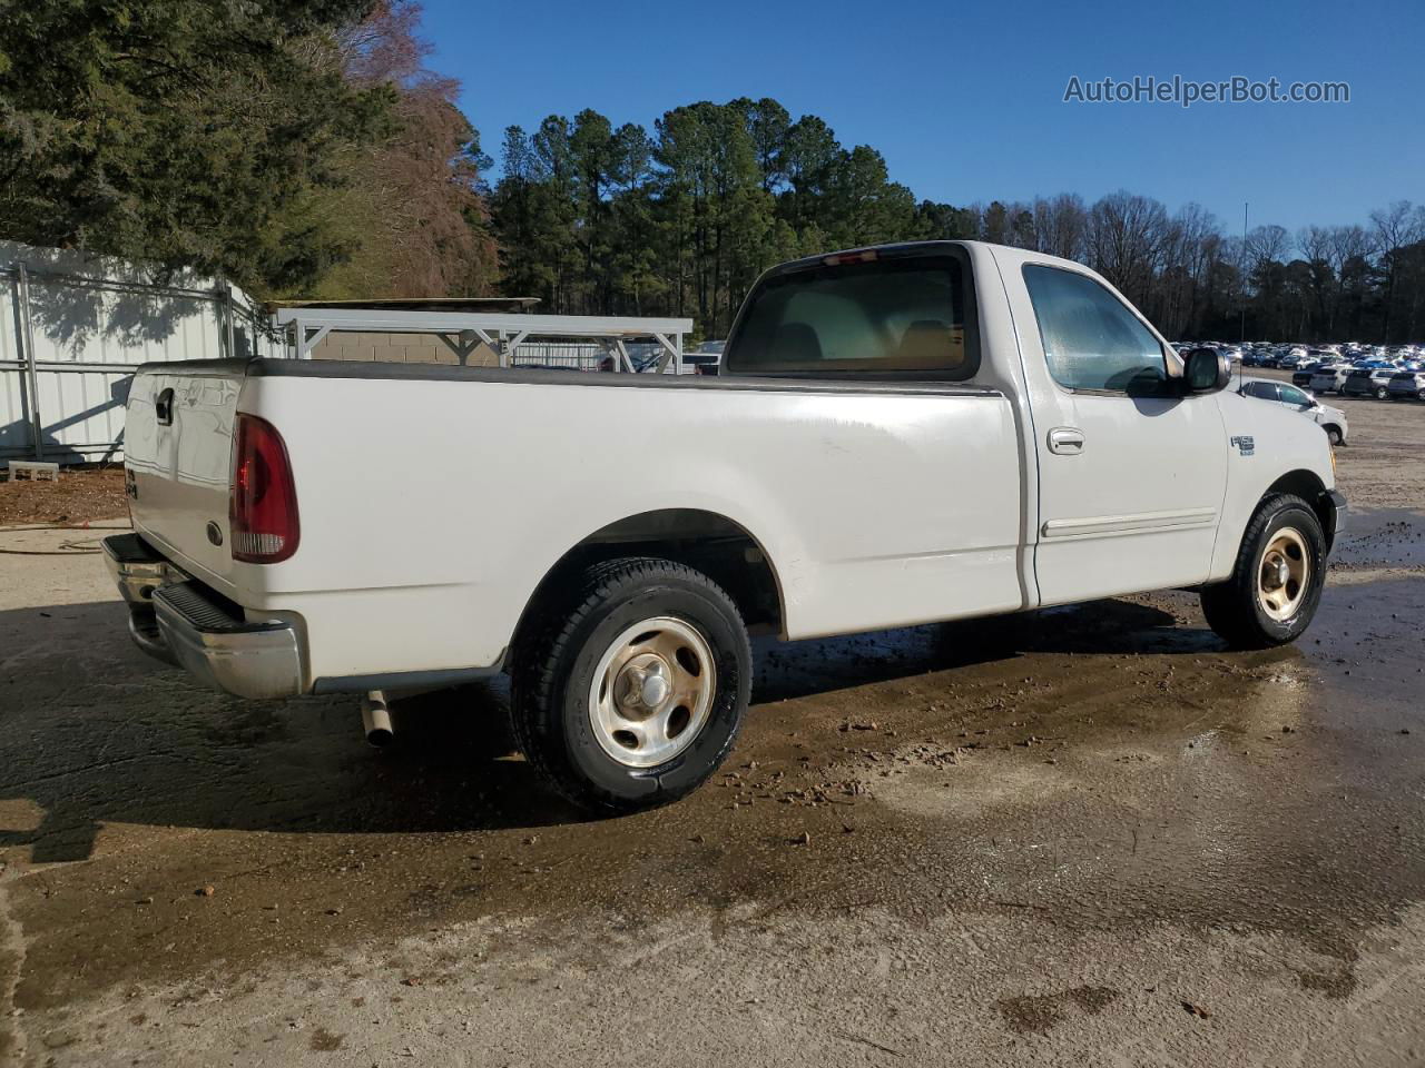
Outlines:
[[[507,125],[614,125],[774,97],[879,150],[916,198],[1077,192],[1197,201],[1228,231],[1365,222],[1425,202],[1425,0],[1076,4],[955,0],[425,0],[429,66],[499,162]],[[1341,104],[1064,103],[1139,77],[1344,81]]]

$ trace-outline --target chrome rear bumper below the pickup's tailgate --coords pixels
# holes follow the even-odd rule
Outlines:
[[[104,538],[104,554],[128,602],[128,634],[150,656],[239,698],[305,692],[294,624],[249,622],[238,605],[191,580],[137,534]]]

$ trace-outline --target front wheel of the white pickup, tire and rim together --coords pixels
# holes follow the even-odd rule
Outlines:
[[[1325,585],[1325,534],[1300,497],[1263,500],[1226,582],[1203,588],[1203,615],[1237,649],[1295,641],[1311,625]]]

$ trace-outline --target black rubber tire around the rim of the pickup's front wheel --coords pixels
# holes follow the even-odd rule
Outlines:
[[[1258,571],[1273,537],[1287,527],[1294,528],[1307,547],[1305,594],[1291,617],[1274,619],[1258,597]],[[1234,649],[1265,649],[1295,641],[1311,625],[1321,604],[1325,558],[1325,534],[1311,506],[1287,493],[1265,497],[1243,534],[1231,578],[1203,587],[1207,625]]]

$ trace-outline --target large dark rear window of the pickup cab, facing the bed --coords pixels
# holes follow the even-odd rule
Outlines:
[[[970,266],[955,246],[868,249],[762,279],[728,337],[731,375],[965,382],[979,370]]]

